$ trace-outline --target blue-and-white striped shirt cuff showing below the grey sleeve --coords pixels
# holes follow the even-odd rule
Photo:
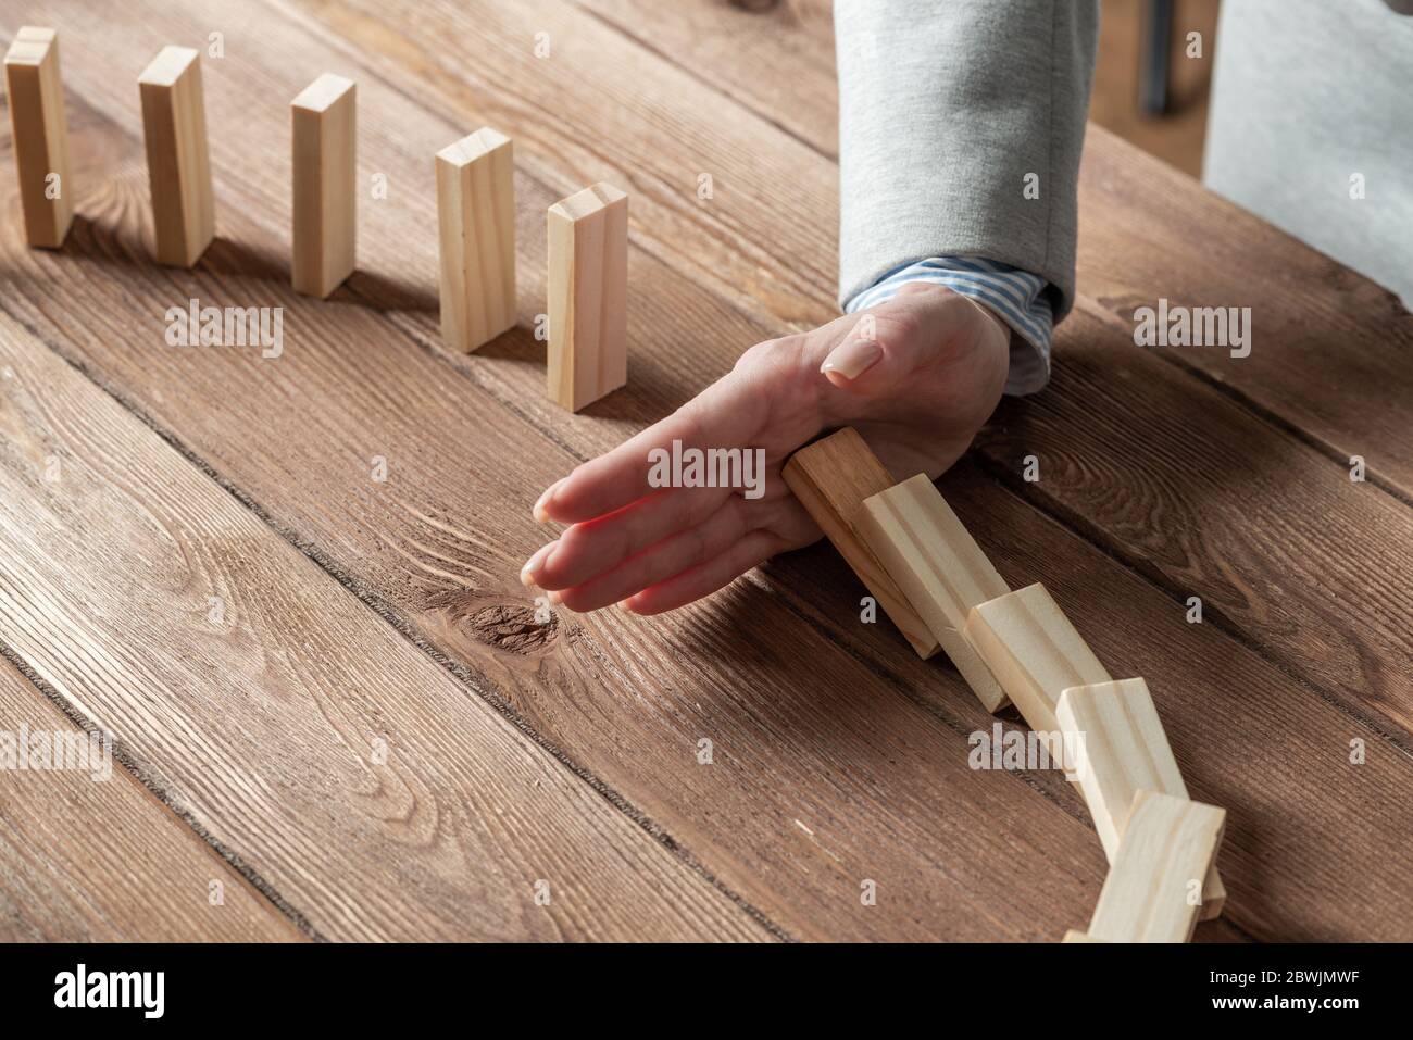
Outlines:
[[[910,281],[947,285],[989,307],[1015,331],[1010,338],[1010,373],[1006,393],[1033,394],[1050,382],[1050,341],[1054,312],[1039,274],[975,256],[938,256],[896,267],[845,304],[853,314],[897,295]]]

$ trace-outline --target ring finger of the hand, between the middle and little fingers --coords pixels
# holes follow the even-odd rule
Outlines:
[[[747,537],[747,509],[732,496],[697,527],[677,531],[584,584],[551,592],[550,602],[581,613],[612,606],[656,582],[731,554]]]

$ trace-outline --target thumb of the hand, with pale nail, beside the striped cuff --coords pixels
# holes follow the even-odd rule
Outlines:
[[[841,390],[869,396],[904,384],[918,369],[957,353],[957,348],[965,350],[978,336],[1009,338],[1000,318],[985,307],[924,283],[904,285],[856,318],[820,372]]]

